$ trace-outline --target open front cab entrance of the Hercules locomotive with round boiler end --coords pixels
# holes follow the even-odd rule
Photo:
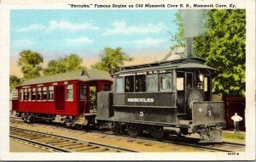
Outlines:
[[[211,73],[206,70],[177,70],[177,115],[191,120],[192,104],[211,99]]]

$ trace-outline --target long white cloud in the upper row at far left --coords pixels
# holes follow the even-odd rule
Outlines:
[[[56,31],[56,30],[63,30],[63,31],[84,31],[84,30],[98,30],[99,27],[92,25],[88,22],[83,23],[70,23],[68,21],[56,21],[51,20],[49,21],[49,25],[41,25],[41,24],[34,24],[29,25],[27,27],[22,27],[17,29],[16,31],[24,32],[24,31],[32,31],[32,30],[45,30],[45,31]]]

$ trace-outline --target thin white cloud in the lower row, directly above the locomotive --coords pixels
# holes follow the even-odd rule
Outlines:
[[[146,37],[143,39],[137,39],[134,41],[129,41],[129,42],[123,42],[123,43],[132,43],[132,44],[140,44],[140,45],[145,45],[145,46],[156,46],[160,43],[165,43],[165,39],[154,39],[151,37]]]

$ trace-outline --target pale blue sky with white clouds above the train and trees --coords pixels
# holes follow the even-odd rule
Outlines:
[[[98,58],[104,47],[122,47],[137,57],[168,53],[172,45],[168,31],[177,32],[176,13],[174,9],[11,10],[11,57],[18,58],[24,49],[47,60],[69,53]]]

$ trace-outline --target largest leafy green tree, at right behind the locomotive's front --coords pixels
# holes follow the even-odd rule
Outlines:
[[[245,9],[214,9],[207,14],[207,33],[195,38],[194,49],[218,69],[212,92],[245,94]]]

